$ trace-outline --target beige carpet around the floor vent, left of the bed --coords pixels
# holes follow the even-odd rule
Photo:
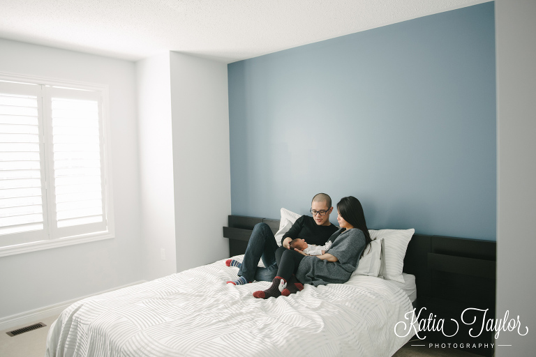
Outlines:
[[[48,317],[47,319],[41,319],[35,321],[31,324],[26,324],[24,326],[29,326],[37,324],[38,322],[43,322],[47,325],[42,328],[38,328],[34,331],[29,331],[27,333],[22,333],[10,337],[6,332],[16,330],[17,328],[22,328],[24,326],[15,326],[6,331],[1,331],[0,333],[0,356],[1,357],[44,357],[45,356],[45,347],[47,346],[47,334],[50,324],[58,318],[58,315],[53,317]]]

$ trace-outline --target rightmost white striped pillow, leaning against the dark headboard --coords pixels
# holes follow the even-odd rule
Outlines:
[[[385,272],[383,278],[404,282],[402,269],[404,267],[405,250],[415,233],[415,229],[368,229],[371,239],[383,238],[385,244]]]

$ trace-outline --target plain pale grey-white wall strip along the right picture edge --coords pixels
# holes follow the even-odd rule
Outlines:
[[[496,356],[534,356],[536,333],[536,1],[496,0],[497,311],[519,315]]]

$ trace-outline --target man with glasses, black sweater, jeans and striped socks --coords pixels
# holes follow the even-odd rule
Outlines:
[[[271,282],[276,277],[276,255],[281,257],[283,252],[290,249],[290,241],[294,238],[303,238],[308,244],[325,245],[337,227],[329,222],[329,214],[332,213],[332,199],[325,193],[319,193],[311,202],[311,214],[302,215],[296,220],[289,231],[281,238],[281,247],[278,247],[276,238],[266,223],[258,223],[253,228],[248,241],[248,248],[244,254],[244,260],[240,263],[234,259],[225,261],[227,266],[239,267],[237,280],[228,281],[229,284],[242,285],[248,282],[265,281]],[[259,260],[266,268],[258,266]]]

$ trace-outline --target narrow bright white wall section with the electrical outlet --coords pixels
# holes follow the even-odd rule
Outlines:
[[[153,280],[176,272],[169,52],[138,61],[136,74],[142,266]]]

